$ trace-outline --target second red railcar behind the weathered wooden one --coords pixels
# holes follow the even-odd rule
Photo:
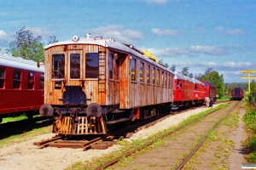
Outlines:
[[[195,80],[194,78],[192,79],[194,82],[193,86],[193,101],[197,105],[203,105],[205,97],[206,97],[206,90],[205,90],[205,84],[200,82],[199,80]]]

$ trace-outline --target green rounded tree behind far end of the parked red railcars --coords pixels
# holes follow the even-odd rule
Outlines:
[[[224,78],[223,75],[218,75],[217,71],[207,68],[205,74],[201,77],[202,81],[211,82],[217,87],[217,94],[219,98],[224,96]]]

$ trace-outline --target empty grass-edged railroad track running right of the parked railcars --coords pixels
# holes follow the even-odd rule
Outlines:
[[[150,169],[181,169],[189,161],[189,158],[195,154],[196,150],[207,140],[212,131],[224,120],[224,117],[238,108],[239,104],[241,104],[241,101],[231,102],[228,108],[213,111],[212,113],[214,114],[207,114],[201,121],[195,120],[193,125],[189,123],[183,127],[178,127],[158,139],[154,139],[135,150],[129,151],[124,156],[108,161],[101,167],[93,168],[104,169],[108,167],[108,169],[119,169],[118,166],[110,166],[126,156],[131,156],[138,150],[143,150],[160,139],[167,138],[162,146],[150,150],[150,153],[140,154],[136,159],[131,160],[130,166],[120,169],[147,169],[150,165]],[[177,131],[180,131],[180,133],[175,133]]]

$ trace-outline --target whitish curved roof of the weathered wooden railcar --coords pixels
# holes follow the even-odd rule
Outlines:
[[[172,74],[174,74],[172,71],[168,70],[166,67],[154,62],[152,59],[148,59],[148,57],[144,56],[143,54],[139,54],[136,50],[127,47],[125,44],[123,44],[121,42],[114,41],[112,38],[109,38],[109,39],[101,39],[100,38],[100,39],[98,39],[98,38],[91,38],[91,37],[82,37],[82,38],[79,38],[76,41],[74,41],[73,39],[70,39],[70,40],[67,40],[67,41],[50,43],[49,45],[45,46],[44,49],[51,48],[51,47],[58,46],[58,45],[71,45],[71,44],[74,44],[74,43],[101,45],[101,46],[106,47],[106,48],[112,48],[114,50],[123,51],[123,52],[128,53],[128,54],[133,54],[133,55],[136,55],[136,56],[138,56],[138,57],[140,57],[144,60],[147,60],[152,65],[157,65],[161,69],[169,71]]]

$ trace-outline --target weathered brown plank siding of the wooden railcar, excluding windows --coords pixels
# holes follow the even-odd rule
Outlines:
[[[105,50],[106,54],[106,91],[105,93],[98,92],[98,79],[97,78],[87,78],[85,79],[85,54],[86,53],[98,53],[99,48],[101,51]],[[51,48],[45,49],[45,65],[49,70],[52,69],[52,54],[65,54],[65,80],[68,86],[82,86],[82,82],[79,80],[84,80],[84,94],[86,98],[91,99],[87,101],[87,105],[91,103],[97,103],[99,105],[120,105],[120,109],[130,109],[136,106],[146,106],[146,105],[158,105],[161,103],[167,103],[173,101],[173,83],[171,82],[168,87],[162,86],[161,74],[162,69],[157,66],[157,64],[152,65],[152,63],[147,62],[137,56],[114,51],[113,48],[109,50],[108,48],[93,44],[69,44],[66,50],[64,50],[63,45],[53,46]],[[81,79],[70,79],[69,78],[69,55],[71,53],[80,54],[80,77]],[[118,54],[119,56],[119,80],[109,80],[108,75],[108,57],[109,54]],[[137,80],[131,82],[131,57],[137,59]],[[151,82],[146,82],[146,70],[144,69],[144,82],[139,82],[139,62],[144,63],[144,68],[146,65],[150,65],[150,69],[155,67],[160,70],[160,85],[152,84]],[[102,69],[102,68],[101,68]],[[152,74],[152,72],[150,73]],[[166,73],[166,71],[164,71]],[[173,75],[171,72],[167,72],[168,76]],[[62,98],[64,88],[55,89],[55,82],[61,79],[51,79],[51,71],[46,71],[45,73],[45,103],[50,105],[63,105],[63,101],[59,100]],[[63,84],[62,84],[63,85]]]

